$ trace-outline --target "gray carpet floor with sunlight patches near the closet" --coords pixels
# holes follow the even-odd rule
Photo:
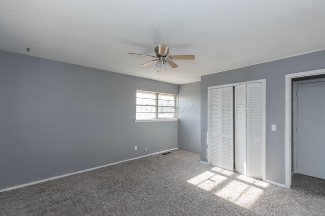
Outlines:
[[[0,215],[325,215],[325,181],[290,190],[175,150],[0,193]]]

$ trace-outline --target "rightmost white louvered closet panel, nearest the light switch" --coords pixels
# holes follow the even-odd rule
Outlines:
[[[262,179],[263,83],[247,84],[247,176]]]

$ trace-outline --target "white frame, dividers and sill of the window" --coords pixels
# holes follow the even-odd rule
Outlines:
[[[155,121],[178,121],[178,96],[174,94],[167,94],[167,93],[159,93],[159,92],[149,92],[149,91],[144,91],[144,90],[137,90],[136,91],[136,99],[137,99],[137,93],[138,92],[143,92],[143,93],[151,93],[156,95],[156,117],[155,118],[149,118],[149,119],[137,119],[137,110],[136,110],[136,119],[135,122],[155,122]],[[159,106],[158,101],[159,101],[159,95],[167,95],[167,96],[174,96],[175,97],[175,118],[158,118],[158,112],[159,112],[159,107],[166,107],[166,106]],[[137,100],[136,100],[137,101]],[[136,102],[136,107],[137,107],[137,102]],[[140,105],[140,104],[139,104]],[[171,107],[171,106],[168,106]]]

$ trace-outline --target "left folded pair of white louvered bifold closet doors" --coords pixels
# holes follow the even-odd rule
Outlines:
[[[234,170],[233,87],[210,90],[210,163]]]

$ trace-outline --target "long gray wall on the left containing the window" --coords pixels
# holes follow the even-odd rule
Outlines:
[[[176,148],[177,121],[135,123],[137,89],[178,94],[175,84],[0,51],[0,189],[139,157],[145,146]]]

